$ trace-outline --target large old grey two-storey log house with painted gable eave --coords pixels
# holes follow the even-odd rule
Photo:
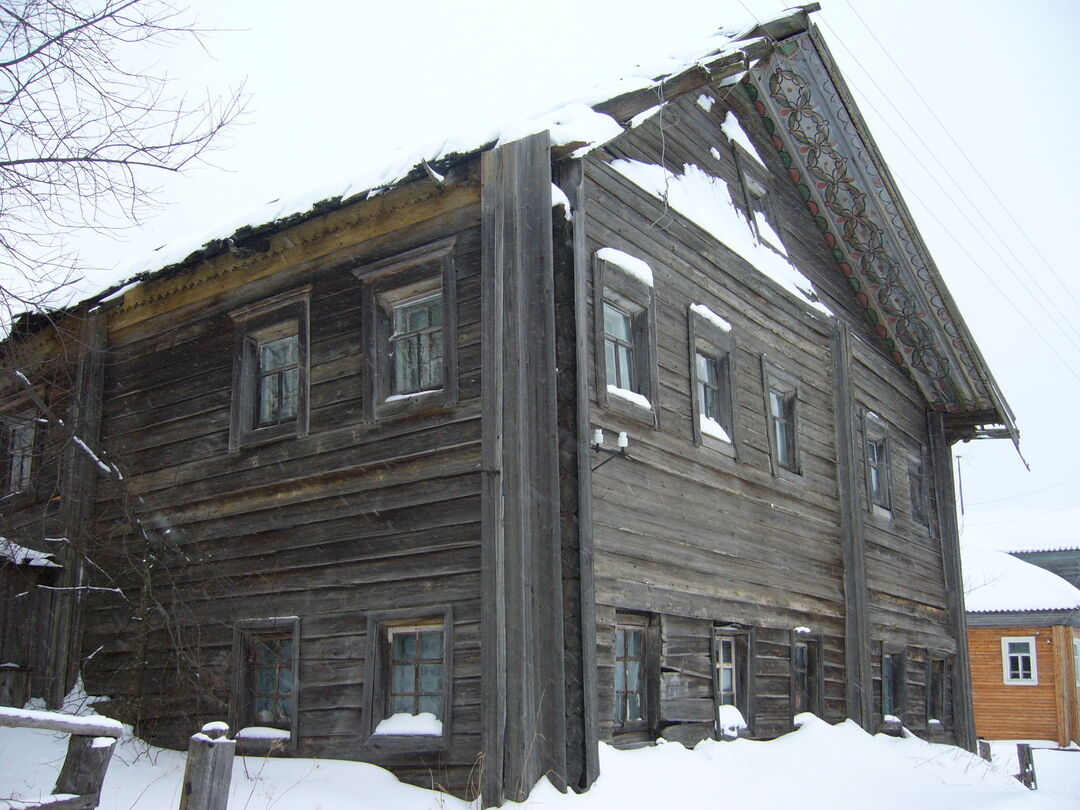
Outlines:
[[[1015,431],[835,63],[800,11],[635,86],[18,324],[54,699],[488,802],[804,711],[973,744],[950,445]]]

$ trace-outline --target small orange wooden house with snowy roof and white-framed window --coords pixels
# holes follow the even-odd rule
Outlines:
[[[1080,742],[1080,589],[1002,551],[963,572],[978,735]]]

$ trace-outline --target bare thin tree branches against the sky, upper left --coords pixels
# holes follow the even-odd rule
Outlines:
[[[132,67],[203,33],[170,0],[0,0],[0,324],[75,276],[66,234],[137,224],[241,113],[242,87],[192,104]]]

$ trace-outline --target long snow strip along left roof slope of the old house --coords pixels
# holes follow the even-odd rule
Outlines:
[[[638,64],[626,75],[596,84],[582,97],[568,100],[563,106],[534,118],[505,122],[497,129],[460,133],[434,141],[426,148],[383,156],[375,163],[343,172],[341,179],[276,198],[230,221],[217,222],[202,233],[185,234],[174,242],[161,245],[149,255],[121,262],[111,271],[95,273],[93,281],[97,291],[107,293],[99,300],[119,295],[124,288],[143,281],[146,274],[177,265],[208,245],[226,242],[242,229],[260,230],[281,224],[316,211],[321,207],[319,203],[327,201],[345,203],[375,197],[405,180],[424,164],[470,154],[492,144],[507,144],[548,131],[553,146],[572,147],[572,157],[580,158],[624,132],[622,124],[593,109],[594,105],[626,93],[658,89],[666,79],[683,71],[752,48],[762,41],[760,37],[747,38],[748,32],[757,26],[758,23],[755,22],[753,25],[719,30],[698,48],[687,49],[660,60]],[[654,113],[658,109],[659,106],[648,112]],[[91,295],[92,292],[84,289],[83,294]]]

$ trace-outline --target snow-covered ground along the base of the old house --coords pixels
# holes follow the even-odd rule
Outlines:
[[[548,783],[508,807],[656,810],[734,807],[837,810],[1075,810],[1080,753],[1037,752],[1040,789],[1012,777],[1014,744],[995,744],[995,766],[955,747],[915,738],[872,737],[853,723],[811,715],[771,742],[706,741],[693,751],[660,743],[636,751],[600,746],[602,775],[583,795]],[[0,808],[24,807],[52,788],[66,750],[62,734],[0,728]],[[1010,760],[1010,756],[1013,759]],[[1069,759],[1071,757],[1072,759]],[[173,810],[185,755],[125,733],[106,778],[103,810]],[[327,759],[239,757],[231,810],[464,810],[476,805],[400,783],[373,765]]]

